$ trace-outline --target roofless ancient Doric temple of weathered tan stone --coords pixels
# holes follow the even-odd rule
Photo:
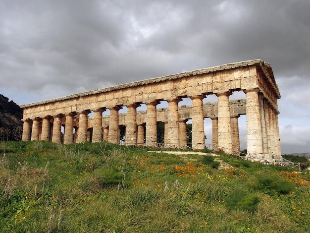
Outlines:
[[[235,91],[243,91],[245,100],[229,100]],[[212,94],[217,102],[203,103]],[[190,98],[192,105],[179,106],[182,98]],[[192,148],[203,149],[204,118],[209,117],[212,147],[238,154],[238,117],[246,115],[246,158],[274,163],[282,159],[279,98],[271,65],[260,59],[242,61],[23,105],[22,140],[118,144],[119,126],[124,125],[126,145],[157,146],[157,122],[164,122],[164,147],[183,148],[191,119]],[[168,107],[156,109],[160,101]],[[137,111],[141,104],[146,111]],[[118,112],[123,106],[126,114]],[[107,109],[109,115],[103,115]]]

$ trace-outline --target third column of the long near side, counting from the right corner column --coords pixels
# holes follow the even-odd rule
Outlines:
[[[204,96],[192,96],[192,148],[205,148]]]

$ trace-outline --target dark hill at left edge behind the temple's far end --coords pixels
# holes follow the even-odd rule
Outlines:
[[[0,140],[16,140],[13,132],[22,127],[22,117],[23,110],[0,94]]]

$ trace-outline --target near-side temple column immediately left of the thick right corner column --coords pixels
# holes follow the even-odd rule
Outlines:
[[[231,123],[229,95],[230,92],[216,93],[217,101],[217,117],[218,117],[218,148],[227,154],[232,154],[231,141]]]

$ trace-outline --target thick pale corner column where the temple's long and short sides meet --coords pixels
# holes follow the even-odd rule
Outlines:
[[[262,135],[258,102],[258,88],[244,90],[246,93],[247,114],[247,156],[262,158]],[[258,157],[258,156],[260,157]]]

